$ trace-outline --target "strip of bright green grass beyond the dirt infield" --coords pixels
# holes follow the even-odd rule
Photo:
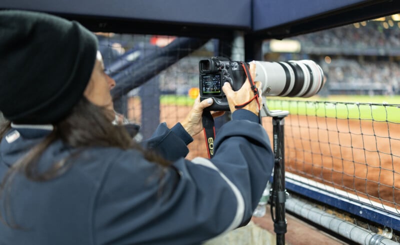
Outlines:
[[[194,99],[186,95],[162,95],[160,102],[191,106]],[[400,122],[400,96],[267,97],[267,105],[270,110],[288,110],[290,114]]]

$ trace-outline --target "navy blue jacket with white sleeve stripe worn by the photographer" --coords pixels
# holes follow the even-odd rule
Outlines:
[[[48,133],[14,126],[0,143],[0,179]],[[251,217],[273,167],[258,117],[235,111],[216,135],[211,160],[184,159],[190,140],[180,124],[160,124],[146,146],[173,160],[164,170],[133,149],[90,147],[54,179],[32,182],[16,175],[6,217],[21,228],[0,222],[0,244],[199,244],[238,227]],[[56,141],[39,167],[69,154]]]

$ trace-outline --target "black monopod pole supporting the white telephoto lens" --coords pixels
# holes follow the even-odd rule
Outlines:
[[[284,116],[272,117],[273,124],[273,151],[275,165],[273,168],[273,183],[271,197],[271,216],[273,231],[276,233],[276,244],[284,245],[286,233],[285,207],[286,189],[284,185]],[[275,214],[273,215],[273,206]]]

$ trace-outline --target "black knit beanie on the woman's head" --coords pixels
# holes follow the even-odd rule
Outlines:
[[[97,39],[75,21],[0,10],[0,111],[15,123],[54,123],[83,96]]]

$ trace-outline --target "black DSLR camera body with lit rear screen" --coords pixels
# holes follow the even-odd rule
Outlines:
[[[248,63],[247,63],[248,65]],[[240,61],[216,56],[198,62],[200,101],[212,98],[209,110],[229,110],[229,104],[222,91],[223,83],[229,82],[234,91],[240,89],[246,74]]]

